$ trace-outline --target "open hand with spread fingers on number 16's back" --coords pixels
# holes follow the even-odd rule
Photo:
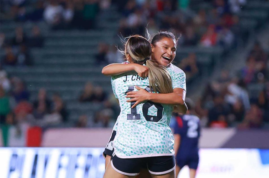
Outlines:
[[[132,98],[127,100],[127,102],[135,102],[132,108],[136,107],[140,103],[144,103],[149,100],[150,93],[145,89],[135,86],[138,91],[130,91],[127,93],[126,98]]]

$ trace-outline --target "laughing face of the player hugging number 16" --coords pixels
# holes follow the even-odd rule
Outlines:
[[[151,58],[164,67],[167,67],[176,56],[176,43],[172,38],[163,37],[151,45]]]

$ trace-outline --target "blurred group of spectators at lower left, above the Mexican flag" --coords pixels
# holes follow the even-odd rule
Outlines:
[[[1,124],[45,128],[68,120],[68,112],[58,93],[49,98],[47,91],[41,88],[36,99],[31,100],[25,83],[18,77],[9,79],[4,70],[1,71],[0,89]]]

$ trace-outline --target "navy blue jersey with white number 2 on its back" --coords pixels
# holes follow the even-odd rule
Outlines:
[[[180,145],[177,157],[188,158],[198,156],[198,141],[200,137],[200,120],[195,115],[176,117],[175,134],[180,135]]]

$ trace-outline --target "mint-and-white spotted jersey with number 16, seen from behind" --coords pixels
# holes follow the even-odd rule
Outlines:
[[[149,86],[148,77],[143,79],[136,74],[114,76],[111,83],[121,107],[118,126],[115,124],[113,128],[117,131],[115,154],[119,158],[174,155],[174,136],[169,127],[173,106],[146,102],[131,109],[131,103],[126,102],[129,99],[125,97],[126,93],[137,91],[134,86]]]

